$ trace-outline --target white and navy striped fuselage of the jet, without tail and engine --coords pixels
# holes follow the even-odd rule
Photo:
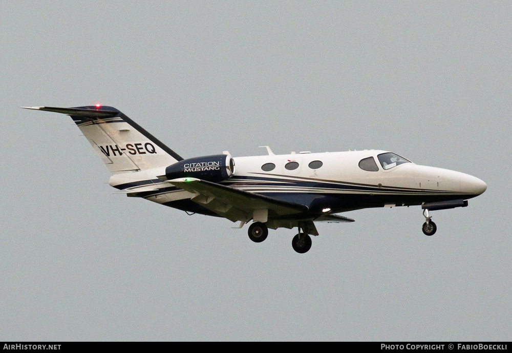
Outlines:
[[[309,207],[309,213],[318,215],[368,207],[469,199],[480,195],[487,187],[474,176],[412,162],[384,169],[378,156],[386,153],[389,152],[365,150],[234,157],[234,174],[220,183],[234,189],[303,204]],[[361,160],[369,157],[375,161],[374,170],[364,170],[359,166]],[[274,167],[268,170],[271,164]],[[296,168],[290,170],[287,165],[288,168]],[[159,180],[157,175],[163,173],[161,170],[154,171],[154,175],[148,172],[117,174],[111,178],[110,184],[119,189],[126,189],[131,184],[133,191],[140,192],[144,188],[154,190],[158,187],[156,184],[160,184],[162,194],[151,193],[146,198],[189,212],[216,215],[190,201],[194,194]],[[170,190],[175,192],[169,193]],[[323,212],[326,209],[330,210]]]

